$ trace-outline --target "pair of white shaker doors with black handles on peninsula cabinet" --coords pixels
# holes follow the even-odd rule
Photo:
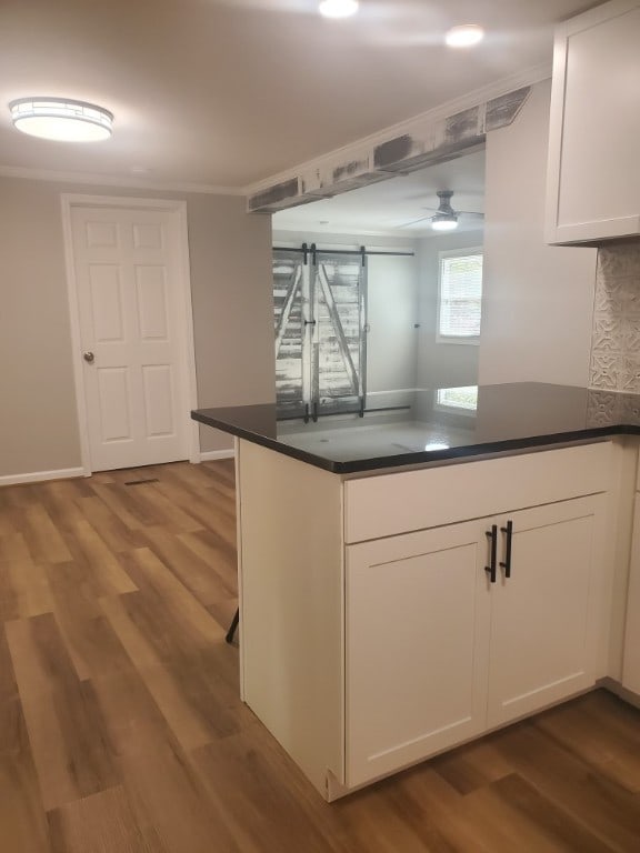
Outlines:
[[[348,786],[594,683],[603,510],[593,495],[348,546]]]

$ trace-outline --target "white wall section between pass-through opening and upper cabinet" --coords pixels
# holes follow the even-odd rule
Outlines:
[[[487,136],[482,384],[588,383],[596,249],[542,234],[550,92],[533,87],[513,124]]]

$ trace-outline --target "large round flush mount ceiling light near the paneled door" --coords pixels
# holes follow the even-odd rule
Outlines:
[[[113,116],[84,101],[64,98],[21,98],[9,104],[13,126],[23,133],[64,142],[109,139]]]

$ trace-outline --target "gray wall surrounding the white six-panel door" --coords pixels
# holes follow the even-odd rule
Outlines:
[[[244,199],[0,178],[0,476],[80,465],[60,194],[184,199],[198,405],[274,398],[271,225]],[[202,449],[230,446],[202,430]]]

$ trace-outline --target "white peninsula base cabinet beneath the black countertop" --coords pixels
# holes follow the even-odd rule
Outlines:
[[[242,695],[327,799],[608,674],[617,453],[344,480],[239,441]]]

